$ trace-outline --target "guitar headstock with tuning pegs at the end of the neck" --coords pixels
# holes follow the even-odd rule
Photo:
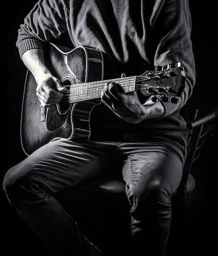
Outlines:
[[[144,95],[164,94],[181,96],[185,88],[185,71],[180,63],[156,67],[154,71],[147,70],[136,79],[136,90]]]

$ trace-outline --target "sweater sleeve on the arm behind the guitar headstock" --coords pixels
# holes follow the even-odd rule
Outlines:
[[[154,65],[165,67],[180,62],[185,70],[185,88],[178,103],[162,102],[166,117],[182,108],[192,94],[195,64],[191,41],[191,15],[188,0],[156,0],[150,18]],[[161,100],[161,95],[157,95]],[[152,98],[152,97],[151,97]],[[151,99],[150,98],[150,99]],[[171,97],[169,97],[171,98]]]

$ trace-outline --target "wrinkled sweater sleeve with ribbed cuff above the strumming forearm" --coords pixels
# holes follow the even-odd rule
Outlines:
[[[18,29],[20,57],[29,49],[44,49],[44,42],[60,38],[67,30],[68,7],[63,0],[39,0]]]

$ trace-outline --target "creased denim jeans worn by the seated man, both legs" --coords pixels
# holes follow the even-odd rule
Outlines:
[[[131,205],[132,238],[142,245],[140,255],[163,256],[170,232],[171,195],[181,181],[185,151],[180,132],[126,133],[120,141],[103,142],[58,139],[12,167],[3,186],[10,203],[52,255],[97,256],[101,253],[53,193],[108,174],[119,160]]]

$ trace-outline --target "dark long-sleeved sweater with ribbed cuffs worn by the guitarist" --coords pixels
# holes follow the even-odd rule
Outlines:
[[[140,75],[176,62],[185,68],[185,89],[178,103],[163,103],[163,117],[132,124],[100,104],[92,111],[100,130],[185,129],[179,110],[195,83],[188,0],[40,0],[18,30],[20,56],[28,49],[44,49],[45,42],[66,31],[73,47],[88,45],[110,57],[118,74]]]

